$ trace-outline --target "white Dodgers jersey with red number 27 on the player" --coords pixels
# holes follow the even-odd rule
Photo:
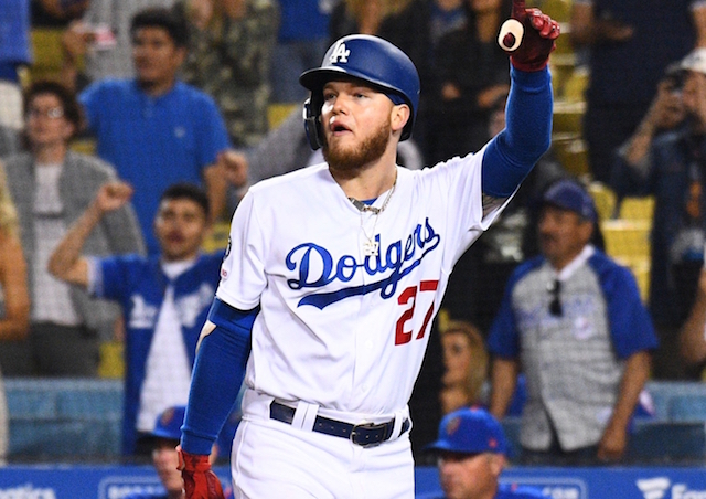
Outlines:
[[[397,167],[377,215],[354,206],[325,163],[253,187],[216,291],[235,308],[261,307],[247,386],[335,412],[404,410],[449,274],[502,210],[483,217],[481,158]],[[364,254],[368,236],[377,256]]]

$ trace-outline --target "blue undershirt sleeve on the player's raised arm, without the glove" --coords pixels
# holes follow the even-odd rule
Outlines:
[[[505,129],[485,149],[483,193],[507,198],[552,144],[552,77],[549,70],[511,68],[512,86],[505,106]]]

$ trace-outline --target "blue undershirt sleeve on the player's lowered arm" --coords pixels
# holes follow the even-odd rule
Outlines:
[[[218,298],[213,300],[207,320],[215,329],[201,339],[181,428],[184,452],[211,454],[240,391],[250,354],[253,322],[258,312],[259,308],[243,311]]]

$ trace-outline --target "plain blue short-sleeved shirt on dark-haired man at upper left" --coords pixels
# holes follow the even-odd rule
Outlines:
[[[86,88],[79,100],[97,155],[135,188],[145,242],[158,254],[152,222],[159,199],[173,183],[202,183],[204,167],[231,146],[223,117],[211,97],[181,82],[150,97],[135,79],[107,79]]]

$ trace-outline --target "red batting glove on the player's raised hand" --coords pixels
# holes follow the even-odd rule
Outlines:
[[[556,49],[554,41],[559,35],[559,24],[539,9],[526,9],[525,0],[513,0],[512,19],[524,26],[522,43],[514,52],[510,52],[512,65],[520,71],[543,70],[549,61],[549,54]],[[501,46],[512,46],[513,42],[514,39],[504,40]]]

